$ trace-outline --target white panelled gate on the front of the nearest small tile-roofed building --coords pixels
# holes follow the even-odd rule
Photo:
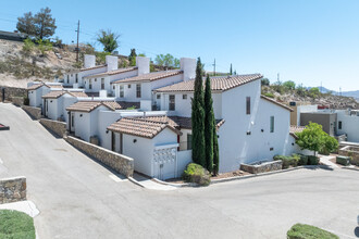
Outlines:
[[[161,180],[176,177],[177,148],[153,150],[154,177]]]

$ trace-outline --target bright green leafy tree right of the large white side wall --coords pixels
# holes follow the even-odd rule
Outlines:
[[[300,149],[308,149],[314,152],[322,150],[325,147],[326,141],[329,139],[329,135],[323,131],[322,126],[317,123],[309,123],[306,128],[301,133],[296,134],[298,139],[296,143],[300,147]],[[332,142],[329,142],[329,147]],[[330,148],[331,150],[332,148]]]

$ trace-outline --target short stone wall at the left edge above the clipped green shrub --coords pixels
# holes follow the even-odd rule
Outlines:
[[[26,200],[26,178],[0,179],[0,204]]]

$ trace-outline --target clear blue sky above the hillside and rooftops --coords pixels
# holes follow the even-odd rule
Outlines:
[[[4,0],[1,0],[4,1]],[[49,7],[57,35],[70,43],[95,42],[96,33],[120,33],[120,53],[154,58],[200,56],[206,70],[261,73],[275,81],[294,80],[333,90],[359,90],[358,0],[14,0],[0,9],[0,29],[16,17]],[[100,49],[100,46],[98,46]]]

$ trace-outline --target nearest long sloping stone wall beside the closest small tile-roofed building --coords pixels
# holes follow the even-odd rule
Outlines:
[[[101,163],[110,166],[115,172],[132,177],[134,174],[134,159],[113,152],[111,150],[91,144],[84,140],[67,136],[64,138],[70,144],[82,150],[86,154],[94,156]]]

